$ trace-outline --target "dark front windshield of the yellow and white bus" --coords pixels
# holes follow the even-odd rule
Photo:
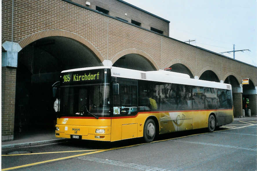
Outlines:
[[[94,73],[95,70],[84,71]],[[84,75],[84,72],[82,73]],[[110,83],[108,76],[101,76],[101,73],[96,72],[99,76],[98,80],[76,81],[73,75],[76,73],[65,73],[62,77],[71,78],[69,83],[63,81],[60,90],[60,117],[109,117],[110,116]],[[107,72],[106,72],[107,73]],[[81,73],[80,73],[81,74]],[[105,75],[105,74],[104,74]],[[106,74],[108,75],[108,74]],[[69,80],[69,79],[68,79]]]

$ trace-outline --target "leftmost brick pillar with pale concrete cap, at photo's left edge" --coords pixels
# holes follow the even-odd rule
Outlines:
[[[2,141],[13,140],[18,43],[2,44]]]

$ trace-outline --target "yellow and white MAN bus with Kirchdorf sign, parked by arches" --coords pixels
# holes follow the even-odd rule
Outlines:
[[[232,123],[230,84],[170,71],[89,67],[61,72],[55,136],[119,141]]]

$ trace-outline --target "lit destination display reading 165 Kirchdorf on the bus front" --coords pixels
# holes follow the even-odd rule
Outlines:
[[[107,70],[85,70],[61,73],[62,84],[101,83]]]

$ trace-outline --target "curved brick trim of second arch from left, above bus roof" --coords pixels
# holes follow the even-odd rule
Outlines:
[[[117,53],[112,59],[112,63],[115,63],[118,59],[120,59],[121,57],[123,57],[126,54],[138,54],[143,56],[145,59],[147,59],[147,61],[149,63],[151,63],[151,65],[156,69],[159,70],[159,67],[157,66],[156,62],[152,59],[152,57],[150,57],[147,53],[145,53],[143,50],[139,50],[139,49],[125,49],[119,53]]]

